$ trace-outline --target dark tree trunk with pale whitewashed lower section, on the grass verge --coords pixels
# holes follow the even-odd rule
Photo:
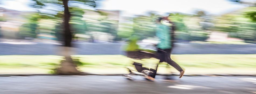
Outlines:
[[[70,31],[70,25],[69,25],[69,19],[70,19],[70,13],[68,10],[68,0],[63,0],[64,5],[64,47],[61,47],[61,53],[62,56],[65,57],[65,60],[63,60],[60,64],[60,67],[57,68],[58,74],[80,74],[81,72],[76,69],[76,64],[74,64],[71,54],[72,54],[72,33]]]

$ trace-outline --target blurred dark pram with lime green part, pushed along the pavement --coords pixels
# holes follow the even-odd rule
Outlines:
[[[132,75],[135,73],[142,73],[142,74],[138,74],[138,75],[142,75],[145,77],[150,76],[152,78],[155,78],[159,60],[157,61],[157,63],[153,64],[153,68],[142,67],[143,64],[138,63],[136,61],[143,60],[143,59],[151,59],[151,58],[158,59],[160,55],[157,52],[157,50],[158,49],[156,48],[155,44],[152,44],[152,43],[140,43],[139,44],[139,43],[137,43],[136,38],[131,39],[129,41],[129,44],[128,44],[125,52],[126,52],[126,56],[131,58],[131,60],[134,62],[132,65],[134,65],[136,69],[134,70],[133,68],[127,68],[128,71],[130,72],[130,74],[125,74],[125,77],[127,79],[133,79],[129,75]]]

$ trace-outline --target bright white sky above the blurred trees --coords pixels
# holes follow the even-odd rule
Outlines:
[[[29,7],[29,4],[31,4],[30,0],[1,1],[0,7],[6,9],[35,11],[35,9]],[[221,15],[246,7],[245,5],[227,0],[100,0],[96,4],[96,9],[121,10],[121,16],[144,15],[147,11],[155,11],[163,16],[167,12],[193,14],[195,9],[205,10],[213,15]],[[82,4],[77,6],[89,8]]]

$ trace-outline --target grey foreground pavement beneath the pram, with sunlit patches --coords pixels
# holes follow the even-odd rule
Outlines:
[[[0,77],[0,94],[255,94],[256,77],[185,76],[156,81],[136,76],[55,75]]]

